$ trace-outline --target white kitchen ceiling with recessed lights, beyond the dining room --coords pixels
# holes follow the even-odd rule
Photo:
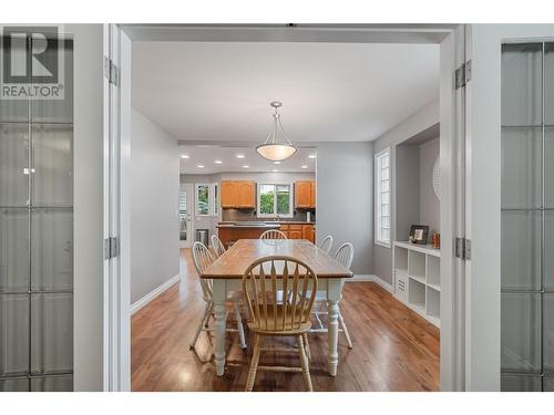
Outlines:
[[[237,158],[237,155],[244,158]],[[181,145],[179,156],[187,155],[188,158],[181,158],[182,174],[214,174],[214,173],[252,173],[252,172],[316,172],[316,159],[309,155],[316,155],[315,148],[298,148],[294,156],[274,164],[256,153],[254,147],[224,147],[224,146],[202,146]],[[222,164],[216,164],[219,160]],[[198,167],[202,165],[204,167]],[[245,168],[244,166],[248,166]],[[306,166],[306,168],[302,168]]]

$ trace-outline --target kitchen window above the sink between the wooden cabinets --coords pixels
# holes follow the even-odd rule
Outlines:
[[[258,184],[258,217],[291,218],[293,185]]]

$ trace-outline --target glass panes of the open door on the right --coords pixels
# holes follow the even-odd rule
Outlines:
[[[502,391],[554,377],[553,45],[502,45]]]

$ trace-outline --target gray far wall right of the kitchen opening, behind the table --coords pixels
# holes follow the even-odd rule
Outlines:
[[[373,146],[372,143],[317,145],[317,225],[320,242],[327,235],[335,247],[352,242],[352,271],[372,273]]]

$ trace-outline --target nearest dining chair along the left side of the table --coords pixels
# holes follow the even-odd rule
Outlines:
[[[204,270],[214,262],[214,257],[209,252],[209,250],[206,248],[206,246],[202,242],[194,242],[193,245],[193,259],[194,259],[194,267],[196,268],[196,272],[198,273],[198,277],[204,272]],[[209,329],[209,317],[212,315],[212,312],[214,310],[214,300],[213,300],[213,281],[209,279],[205,279],[201,277],[201,287],[202,287],[202,294],[203,294],[203,300],[206,302],[206,307],[204,309],[204,314],[202,317],[202,320],[198,323],[198,326],[196,329],[196,332],[194,333],[194,338],[191,342],[191,349],[194,349],[196,345],[196,341],[198,340],[198,336],[201,334],[201,331],[214,331],[214,329]],[[240,302],[242,302],[243,295],[239,291],[230,291],[227,297],[227,302],[233,303],[233,308],[235,311],[235,318],[237,320],[237,329],[226,329],[228,332],[237,332],[238,331],[238,339],[240,341],[240,347],[246,349],[246,341],[245,341],[245,335],[244,335],[244,326],[243,326],[243,318],[240,315]]]

